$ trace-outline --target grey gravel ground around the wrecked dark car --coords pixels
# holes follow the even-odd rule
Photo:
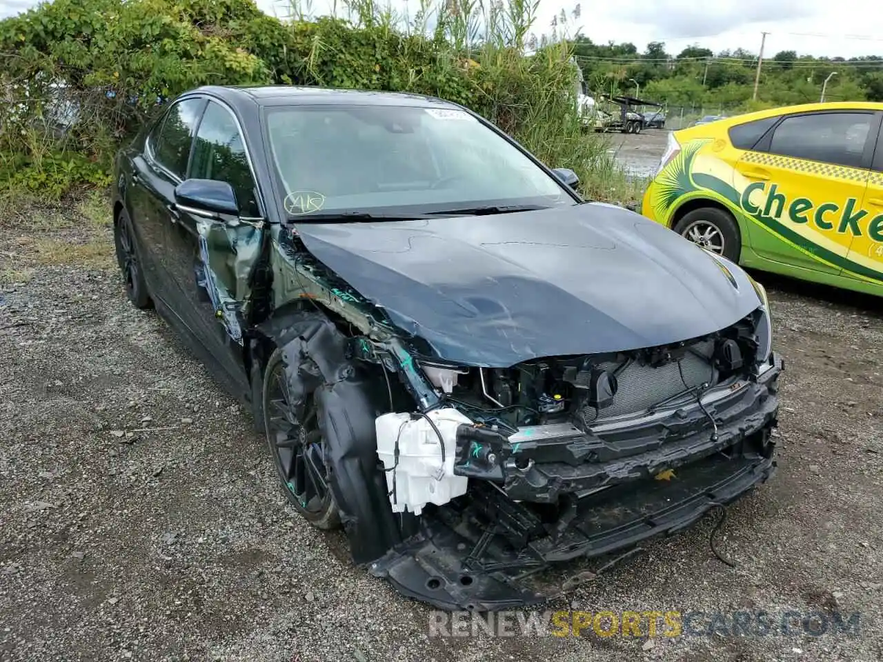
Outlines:
[[[729,510],[736,568],[704,522],[549,606],[860,612],[857,636],[437,637],[285,505],[250,419],[125,301],[87,211],[51,245],[0,221],[0,659],[883,658],[879,301],[763,277],[780,469]]]

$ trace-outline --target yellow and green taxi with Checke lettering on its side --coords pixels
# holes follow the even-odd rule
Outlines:
[[[883,296],[883,103],[811,103],[668,134],[641,213],[744,267]]]

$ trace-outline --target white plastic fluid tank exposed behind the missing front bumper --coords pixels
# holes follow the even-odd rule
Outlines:
[[[393,512],[419,515],[466,493],[468,478],[454,475],[457,427],[472,421],[455,409],[426,415],[389,413],[374,421]]]

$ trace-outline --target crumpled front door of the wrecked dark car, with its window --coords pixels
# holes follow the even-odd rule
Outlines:
[[[173,206],[166,254],[170,285],[187,326],[237,386],[245,387],[243,327],[264,222],[242,132],[220,102],[209,100],[202,114],[188,178],[229,183],[239,218],[222,220]]]

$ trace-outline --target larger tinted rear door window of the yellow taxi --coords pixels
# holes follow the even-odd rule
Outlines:
[[[796,115],[781,121],[766,150],[796,159],[861,168],[872,113]]]

